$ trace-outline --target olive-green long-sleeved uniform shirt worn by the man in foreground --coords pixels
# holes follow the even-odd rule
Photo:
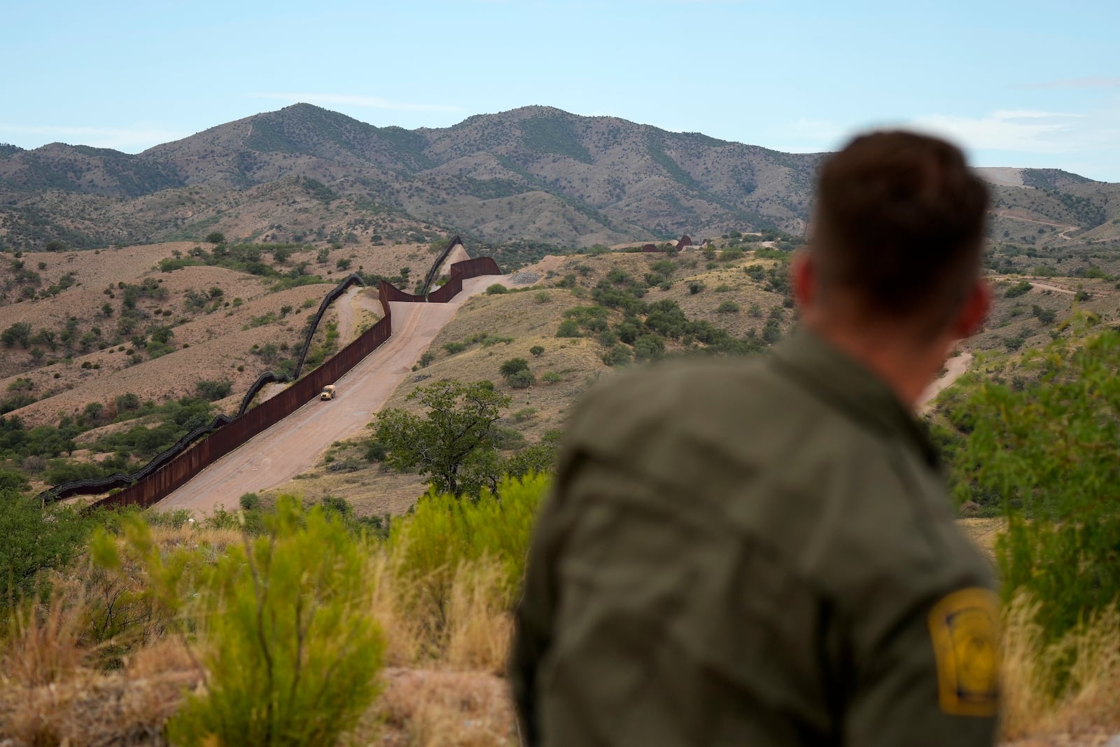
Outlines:
[[[525,737],[990,745],[992,586],[913,415],[819,337],[620,375],[572,418],[530,551]]]

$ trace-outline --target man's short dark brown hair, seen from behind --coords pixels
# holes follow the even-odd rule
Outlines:
[[[811,252],[822,297],[940,330],[976,282],[987,209],[956,147],[912,132],[856,138],[819,176]]]

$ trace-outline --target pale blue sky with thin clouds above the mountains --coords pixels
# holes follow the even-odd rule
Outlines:
[[[788,151],[907,125],[1120,181],[1120,2],[7,0],[0,142],[138,152],[305,101],[448,127],[548,104]]]

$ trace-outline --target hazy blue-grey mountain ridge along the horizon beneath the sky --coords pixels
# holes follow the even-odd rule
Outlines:
[[[96,245],[103,241],[96,232],[64,225],[63,218],[82,214],[75,195],[119,200],[116,212],[128,214],[129,200],[165,190],[244,193],[300,177],[380,211],[485,241],[587,246],[730,230],[803,234],[823,157],[542,105],[405,130],[297,103],[137,155],[63,143],[0,149],[0,221],[9,226],[7,235],[65,234],[78,245]],[[1096,207],[1082,211],[1089,222],[1111,216],[1107,196],[1095,196],[1114,192],[1111,185],[1057,169],[1002,170],[1015,171],[1018,184],[997,183],[997,196],[1036,187],[1073,195],[1066,203],[1093,202]],[[1066,220],[1070,211],[1051,202],[1054,209],[1039,215]],[[1046,200],[1034,203],[1046,208]],[[57,225],[28,228],[50,223],[53,211]],[[214,217],[223,220],[205,220]],[[127,240],[181,235],[175,226],[149,224],[147,235],[130,233]]]

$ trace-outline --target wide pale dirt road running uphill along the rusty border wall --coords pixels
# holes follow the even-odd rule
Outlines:
[[[332,443],[364,430],[463,302],[494,283],[512,286],[508,276],[483,276],[465,280],[463,292],[448,304],[391,302],[393,336],[338,380],[335,400],[311,400],[156,506],[196,513],[236,508],[245,493],[276,487],[306,470]]]

